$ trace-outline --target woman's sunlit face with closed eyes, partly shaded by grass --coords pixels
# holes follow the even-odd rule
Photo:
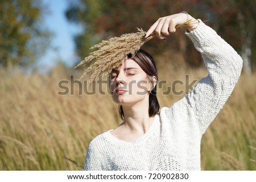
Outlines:
[[[110,73],[110,92],[117,104],[129,105],[148,100],[150,90],[148,75],[130,58]]]

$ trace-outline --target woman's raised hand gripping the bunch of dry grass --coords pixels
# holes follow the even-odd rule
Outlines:
[[[189,19],[195,20],[192,16],[184,13],[174,14],[170,16],[164,16],[159,18],[151,27],[148,29],[146,33],[146,37],[151,35],[151,33],[155,32],[156,36],[159,39],[166,39],[168,35],[174,33],[176,31],[176,26],[179,24],[187,22]],[[185,26],[189,32],[196,29],[198,23],[191,23]]]

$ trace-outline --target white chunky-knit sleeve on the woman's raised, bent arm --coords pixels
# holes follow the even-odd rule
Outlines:
[[[194,113],[203,134],[232,93],[241,74],[242,58],[204,23],[186,35],[201,53],[209,74],[181,102]]]

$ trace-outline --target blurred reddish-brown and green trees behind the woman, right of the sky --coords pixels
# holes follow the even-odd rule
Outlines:
[[[216,29],[237,51],[240,50],[241,55],[250,57],[250,51],[255,52],[252,41],[255,39],[255,4],[256,1],[250,0],[77,0],[76,3],[71,1],[66,16],[71,22],[84,27],[84,32],[75,37],[76,49],[81,58],[88,56],[91,51],[88,48],[100,40],[136,32],[136,27],[147,31],[158,18],[183,10],[195,18],[209,20],[206,23]],[[176,35],[183,33],[184,29],[180,28]],[[201,56],[195,52],[191,41],[185,36],[176,35],[170,35],[165,41],[152,39],[143,49],[154,56],[163,54],[170,60],[174,59],[173,54],[181,54],[188,64],[199,66]]]

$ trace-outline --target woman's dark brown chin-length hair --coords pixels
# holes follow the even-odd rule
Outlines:
[[[131,54],[128,55],[128,58],[131,58],[133,61],[135,61],[141,69],[149,76],[155,76],[156,81],[158,81],[158,73],[156,70],[155,61],[148,54],[146,51],[139,49],[138,52],[135,54],[135,56],[132,56]],[[152,83],[154,86],[154,83]],[[159,103],[158,98],[156,98],[156,85],[151,90],[150,96],[149,96],[149,107],[148,107],[148,116],[152,117],[155,116],[159,112]],[[119,106],[119,115],[122,118],[122,120],[125,118],[125,115],[123,113],[122,105]]]

